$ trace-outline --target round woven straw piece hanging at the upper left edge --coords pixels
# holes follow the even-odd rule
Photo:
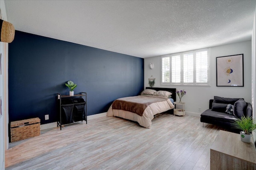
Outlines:
[[[14,39],[14,33],[14,26],[10,22],[0,20],[0,41],[11,43]]]

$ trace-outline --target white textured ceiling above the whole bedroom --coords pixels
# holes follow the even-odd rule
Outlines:
[[[250,40],[256,1],[5,0],[16,30],[146,58]]]

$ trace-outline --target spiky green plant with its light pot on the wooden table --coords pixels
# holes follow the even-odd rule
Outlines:
[[[252,136],[252,131],[256,129],[256,120],[252,119],[252,117],[245,117],[242,116],[241,119],[235,120],[235,123],[232,123],[232,125],[240,129],[240,137],[241,141],[250,143],[251,142],[251,136]]]

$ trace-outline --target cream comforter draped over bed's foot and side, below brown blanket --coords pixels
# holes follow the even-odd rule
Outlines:
[[[173,108],[174,108],[174,105],[169,99],[167,99],[166,101],[163,101],[163,102],[156,102],[156,103],[150,104],[144,110],[143,115],[140,116],[130,111],[112,109],[112,105],[111,105],[110,108],[108,109],[107,116],[117,116],[117,117],[122,117],[124,119],[136,121],[141,126],[149,129],[151,128],[151,125],[152,125],[151,120],[154,118],[154,115],[156,115],[157,113],[162,113],[164,111],[173,109]]]

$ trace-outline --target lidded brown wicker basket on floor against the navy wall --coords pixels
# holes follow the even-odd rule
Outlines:
[[[40,135],[40,119],[38,117],[20,121],[12,121],[11,142],[28,139]]]

